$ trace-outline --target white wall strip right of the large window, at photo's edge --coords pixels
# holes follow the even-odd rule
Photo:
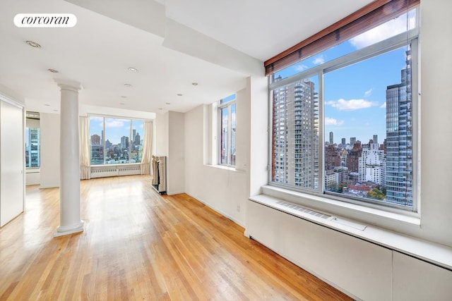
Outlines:
[[[421,1],[421,228],[452,247],[452,1]]]

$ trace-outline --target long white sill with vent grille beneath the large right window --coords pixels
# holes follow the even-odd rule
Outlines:
[[[300,219],[304,219],[312,223],[316,223],[320,226],[331,228],[334,231],[339,231],[347,235],[352,235],[356,238],[360,238],[362,240],[366,240],[376,245],[380,245],[381,247],[386,247],[390,250],[395,250],[403,254],[408,254],[412,257],[421,259],[425,262],[429,262],[435,264],[436,266],[441,266],[445,269],[452,271],[452,247],[446,247],[444,245],[440,245],[434,242],[429,242],[427,240],[422,240],[420,238],[415,238],[412,236],[404,235],[402,233],[397,233],[396,231],[389,231],[378,226],[373,226],[369,223],[357,221],[355,219],[348,219],[340,216],[335,216],[331,213],[328,213],[328,211],[325,210],[319,209],[314,210],[314,212],[307,210],[310,212],[306,213],[306,210],[303,211],[302,210],[303,208],[295,205],[294,202],[287,201],[287,199],[284,198],[274,197],[265,194],[266,192],[268,192],[269,189],[282,190],[281,188],[264,186],[263,187],[264,194],[250,197],[249,198],[250,201],[256,202],[258,204],[263,204],[264,206],[285,212],[287,214],[299,217]],[[295,192],[295,194],[302,195],[299,192]],[[315,198],[312,196],[309,197],[312,199]],[[300,204],[300,202],[297,202],[297,204]],[[304,204],[301,204],[301,206],[304,207]],[[310,209],[308,206],[304,208]],[[328,214],[328,216],[323,214]]]

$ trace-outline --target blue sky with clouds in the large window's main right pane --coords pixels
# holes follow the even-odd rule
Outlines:
[[[334,142],[350,137],[367,143],[378,135],[386,137],[386,87],[400,83],[405,68],[405,49],[362,61],[324,75],[325,133]]]

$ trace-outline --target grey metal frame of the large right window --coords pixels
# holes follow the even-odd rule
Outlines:
[[[417,24],[419,24],[419,7],[417,9]],[[276,188],[283,188],[285,190],[302,192],[307,195],[311,195],[313,197],[321,197],[326,198],[328,200],[334,200],[339,202],[356,204],[360,207],[371,207],[375,209],[381,209],[382,211],[390,211],[401,214],[408,214],[415,216],[419,215],[419,205],[420,205],[420,160],[419,160],[419,152],[420,152],[420,144],[419,144],[419,135],[420,128],[419,123],[417,121],[417,117],[419,116],[419,103],[417,100],[418,93],[418,76],[420,73],[419,70],[419,62],[420,62],[420,26],[418,25],[414,29],[408,30],[407,32],[400,33],[399,35],[390,37],[381,42],[377,42],[376,44],[372,44],[369,47],[364,47],[362,49],[357,49],[350,54],[346,54],[344,56],[339,57],[338,59],[333,59],[331,61],[327,61],[319,66],[314,66],[307,70],[303,70],[300,73],[295,75],[290,75],[287,78],[284,78],[279,81],[272,82],[270,76],[268,76],[268,105],[269,105],[269,131],[268,131],[268,139],[270,143],[268,144],[268,166],[269,171],[273,169],[273,90],[278,87],[283,87],[297,80],[304,80],[308,78],[312,78],[313,76],[319,77],[319,188],[317,190],[314,189],[306,189],[306,188],[297,188],[292,185],[285,185],[283,183],[275,183],[272,181],[272,173],[268,173],[268,185],[274,186]],[[398,49],[400,47],[404,47],[408,44],[411,44],[412,51],[412,140],[413,140],[413,152],[412,152],[412,166],[413,166],[413,201],[412,207],[405,207],[403,205],[391,204],[391,203],[383,203],[379,201],[373,201],[371,199],[366,199],[363,201],[362,199],[350,197],[345,197],[344,195],[340,195],[338,193],[326,192],[325,190],[325,116],[324,116],[324,103],[325,99],[323,99],[323,75],[331,72],[333,70],[338,70],[340,68],[344,68],[347,66],[351,66],[354,63],[358,63],[359,61],[364,61],[366,59],[371,59],[372,57],[378,56],[379,54],[384,54],[388,51],[392,51]],[[326,49],[324,49],[326,50]]]

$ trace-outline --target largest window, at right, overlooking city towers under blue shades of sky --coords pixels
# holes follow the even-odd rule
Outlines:
[[[417,9],[270,75],[270,183],[417,210]]]

